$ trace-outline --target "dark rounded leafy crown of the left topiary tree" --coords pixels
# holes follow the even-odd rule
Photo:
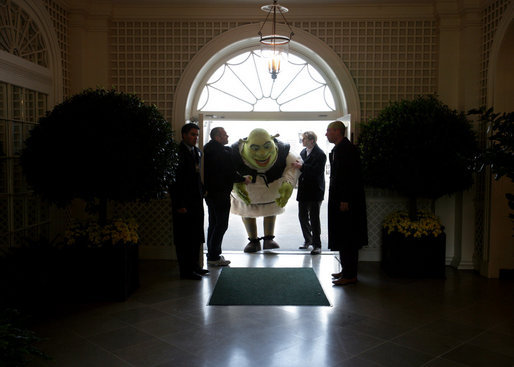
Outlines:
[[[88,89],[54,107],[31,131],[21,164],[27,182],[58,206],[94,207],[160,198],[177,162],[169,123],[155,106],[114,90]]]

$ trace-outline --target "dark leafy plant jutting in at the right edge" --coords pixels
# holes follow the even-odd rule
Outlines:
[[[476,115],[479,122],[486,126],[490,145],[476,157],[476,168],[482,171],[485,167],[491,169],[495,180],[502,177],[514,182],[514,112],[494,113],[493,109],[474,109],[469,115]],[[509,208],[514,211],[514,194],[505,194]],[[509,217],[514,221],[514,213]]]

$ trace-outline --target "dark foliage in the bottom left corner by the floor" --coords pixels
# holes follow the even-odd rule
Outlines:
[[[26,366],[30,362],[29,356],[49,359],[34,346],[41,339],[23,324],[24,320],[16,310],[6,309],[0,313],[0,363],[2,366]]]

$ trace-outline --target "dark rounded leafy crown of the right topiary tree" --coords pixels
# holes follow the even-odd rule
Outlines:
[[[437,199],[473,183],[471,124],[433,95],[391,103],[362,125],[359,146],[371,186]]]

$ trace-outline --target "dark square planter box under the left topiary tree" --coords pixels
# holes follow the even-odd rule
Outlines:
[[[63,251],[66,294],[80,301],[125,301],[139,286],[139,247],[128,244]]]

